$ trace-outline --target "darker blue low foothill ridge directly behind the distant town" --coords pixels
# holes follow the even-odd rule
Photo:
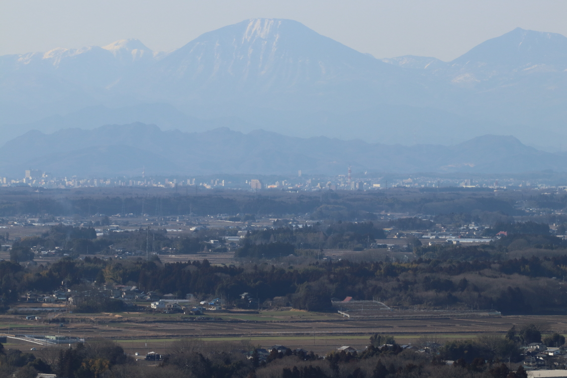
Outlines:
[[[567,156],[535,150],[514,137],[484,135],[454,146],[383,145],[327,137],[296,138],[255,130],[218,128],[201,133],[162,131],[155,125],[107,125],[53,134],[29,131],[0,148],[0,169],[20,177],[24,169],[57,176],[152,174],[208,175],[357,171],[519,173],[566,171]]]

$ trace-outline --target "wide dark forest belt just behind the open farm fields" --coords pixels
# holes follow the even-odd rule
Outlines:
[[[565,275],[565,255],[484,261],[307,260],[294,266],[278,261],[213,266],[206,260],[162,264],[159,259],[103,261],[87,257],[27,268],[3,261],[0,292],[7,305],[27,290],[54,290],[62,281],[78,285],[90,277],[99,285],[136,284],[142,290],[163,294],[222,295],[237,305],[234,299],[250,292],[261,302],[269,299],[318,311],[330,307],[330,298],[346,296],[381,299],[395,307],[494,308],[503,313],[560,313],[567,304],[567,293],[554,279]]]

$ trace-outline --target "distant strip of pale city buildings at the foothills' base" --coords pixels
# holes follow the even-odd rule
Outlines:
[[[46,189],[87,188],[116,186],[145,186],[158,188],[201,188],[201,189],[280,189],[280,190],[378,190],[387,188],[440,188],[456,186],[460,188],[567,188],[567,175],[562,173],[467,175],[466,173],[435,174],[417,173],[400,175],[390,173],[352,172],[345,169],[345,175],[323,176],[297,175],[259,176],[259,175],[211,175],[211,176],[164,176],[146,175],[121,177],[57,177],[39,169],[27,169],[23,177],[2,177],[2,186],[32,186]]]

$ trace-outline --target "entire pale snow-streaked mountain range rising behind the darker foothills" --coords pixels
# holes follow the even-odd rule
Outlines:
[[[0,143],[56,130],[61,120],[62,127],[142,121],[404,145],[450,145],[490,132],[558,147],[567,138],[566,57],[564,36],[517,28],[451,62],[378,60],[280,19],[223,27],[171,53],[122,40],[3,56]]]

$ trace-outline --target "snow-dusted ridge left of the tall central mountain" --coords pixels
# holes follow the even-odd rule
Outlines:
[[[132,95],[116,94],[112,87],[141,74],[162,56],[138,40],[2,56],[0,125],[23,124],[101,104],[132,104]]]

